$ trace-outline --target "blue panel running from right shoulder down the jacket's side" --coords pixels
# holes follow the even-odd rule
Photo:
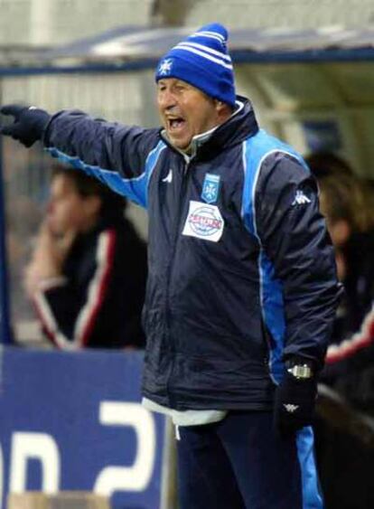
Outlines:
[[[266,256],[257,232],[256,191],[263,162],[268,156],[279,152],[295,157],[307,168],[301,156],[291,146],[267,135],[262,129],[243,143],[244,185],[241,212],[246,228],[257,239],[259,246],[259,297],[264,323],[274,339],[274,344],[269,349],[269,372],[275,383],[280,381],[283,373],[281,359],[285,342],[285,305],[282,282],[276,278],[274,265]]]

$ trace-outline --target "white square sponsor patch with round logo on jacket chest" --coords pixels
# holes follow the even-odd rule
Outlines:
[[[191,200],[182,235],[218,242],[222,236],[224,224],[217,205]]]

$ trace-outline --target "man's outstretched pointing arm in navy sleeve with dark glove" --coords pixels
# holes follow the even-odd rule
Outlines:
[[[1,127],[3,135],[27,147],[42,141],[51,156],[146,207],[148,183],[165,147],[158,129],[110,123],[78,110],[51,116],[40,108],[8,105],[1,111],[14,117]]]

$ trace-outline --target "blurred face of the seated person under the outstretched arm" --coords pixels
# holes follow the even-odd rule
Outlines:
[[[47,205],[47,221],[51,231],[63,235],[67,231],[85,231],[96,221],[96,197],[82,198],[74,182],[64,174],[57,174],[51,183]]]

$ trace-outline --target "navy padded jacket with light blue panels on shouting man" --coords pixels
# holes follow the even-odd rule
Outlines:
[[[247,99],[189,164],[160,129],[79,111],[44,144],[148,209],[145,397],[261,410],[288,357],[322,365],[340,287],[316,184]]]

